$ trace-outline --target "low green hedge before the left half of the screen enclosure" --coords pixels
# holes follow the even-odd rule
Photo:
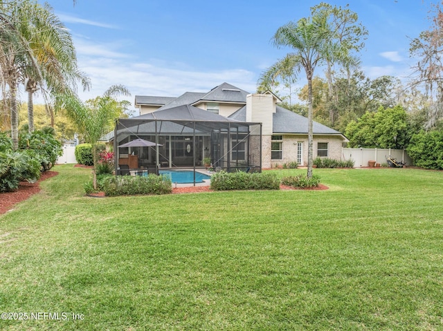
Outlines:
[[[103,180],[106,196],[132,196],[137,194],[168,194],[172,182],[168,176],[108,176]]]

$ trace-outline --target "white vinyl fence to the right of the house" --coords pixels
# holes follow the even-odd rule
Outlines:
[[[413,164],[404,149],[343,149],[341,157],[343,160],[354,160],[354,168],[361,168],[368,167],[368,161],[386,163],[389,155],[397,161],[406,162],[406,165]]]

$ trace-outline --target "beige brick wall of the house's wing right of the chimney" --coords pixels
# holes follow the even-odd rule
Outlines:
[[[307,166],[307,135],[283,135],[282,144],[282,160],[271,160],[271,137],[269,137],[269,155],[267,158],[270,161],[271,167],[275,164],[283,164],[286,162],[293,162],[297,160],[297,143],[302,142],[302,163],[300,166]],[[327,157],[335,160],[341,160],[342,142],[340,136],[334,135],[314,135],[314,158],[317,157],[317,143],[327,142]]]

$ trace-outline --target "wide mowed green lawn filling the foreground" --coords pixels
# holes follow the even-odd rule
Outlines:
[[[1,330],[443,330],[443,172],[87,198],[89,170],[55,171],[0,216],[0,312],[68,320]]]

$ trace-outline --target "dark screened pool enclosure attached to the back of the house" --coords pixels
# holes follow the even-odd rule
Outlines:
[[[260,123],[239,122],[188,105],[120,119],[114,130],[116,173],[123,168],[131,174],[196,171],[208,160],[213,171],[261,171],[261,135]],[[127,146],[138,139],[152,144]]]

